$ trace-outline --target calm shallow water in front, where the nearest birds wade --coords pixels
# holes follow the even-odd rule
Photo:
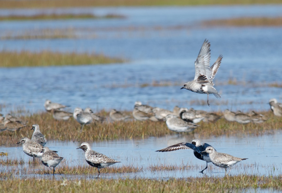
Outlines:
[[[238,164],[234,165],[229,175],[259,175],[259,176],[277,176],[281,175],[281,149],[280,140],[282,133],[276,131],[272,134],[262,136],[237,136],[237,137],[210,137],[201,138],[202,142],[212,145],[218,152],[228,153],[240,158],[248,158]],[[143,170],[137,173],[117,173],[117,174],[104,174],[101,169],[102,178],[154,178],[154,179],[167,179],[167,178],[184,178],[184,177],[201,177],[207,176],[224,176],[225,170],[216,167],[211,163],[208,164],[208,169],[204,174],[199,173],[206,163],[202,160],[195,158],[192,150],[178,150],[172,152],[155,152],[158,149],[180,143],[190,142],[198,136],[191,135],[172,135],[166,137],[150,137],[144,140],[117,140],[117,141],[102,141],[102,142],[89,142],[92,149],[103,153],[121,163],[114,164],[115,167],[123,167],[132,165],[134,167],[142,167]],[[65,164],[71,167],[77,165],[88,165],[84,159],[84,153],[79,147],[81,142],[61,142],[61,141],[48,141],[46,146],[52,150],[58,151],[58,155],[63,156]],[[23,153],[20,146],[15,147],[0,147],[0,152],[8,152],[8,158],[23,159],[25,162],[32,160],[31,157]],[[1,156],[5,159],[5,156]],[[36,158],[37,159],[37,158]],[[152,170],[153,166],[191,166],[185,170]],[[59,165],[60,166],[60,165]],[[58,167],[59,167],[58,166]],[[0,166],[0,171],[3,171],[11,166]],[[14,166],[16,167],[16,166]],[[19,165],[18,170],[27,167],[30,170],[38,170],[42,167],[35,167],[33,165]],[[44,166],[43,166],[44,167]],[[109,166],[112,167],[112,166]],[[95,169],[97,170],[97,169]],[[98,172],[98,170],[97,170]],[[20,172],[21,173],[21,172]],[[20,175],[21,177],[39,176],[49,178],[48,175],[29,174]],[[57,179],[62,177],[80,179],[80,178],[95,178],[95,175],[56,175]]]

